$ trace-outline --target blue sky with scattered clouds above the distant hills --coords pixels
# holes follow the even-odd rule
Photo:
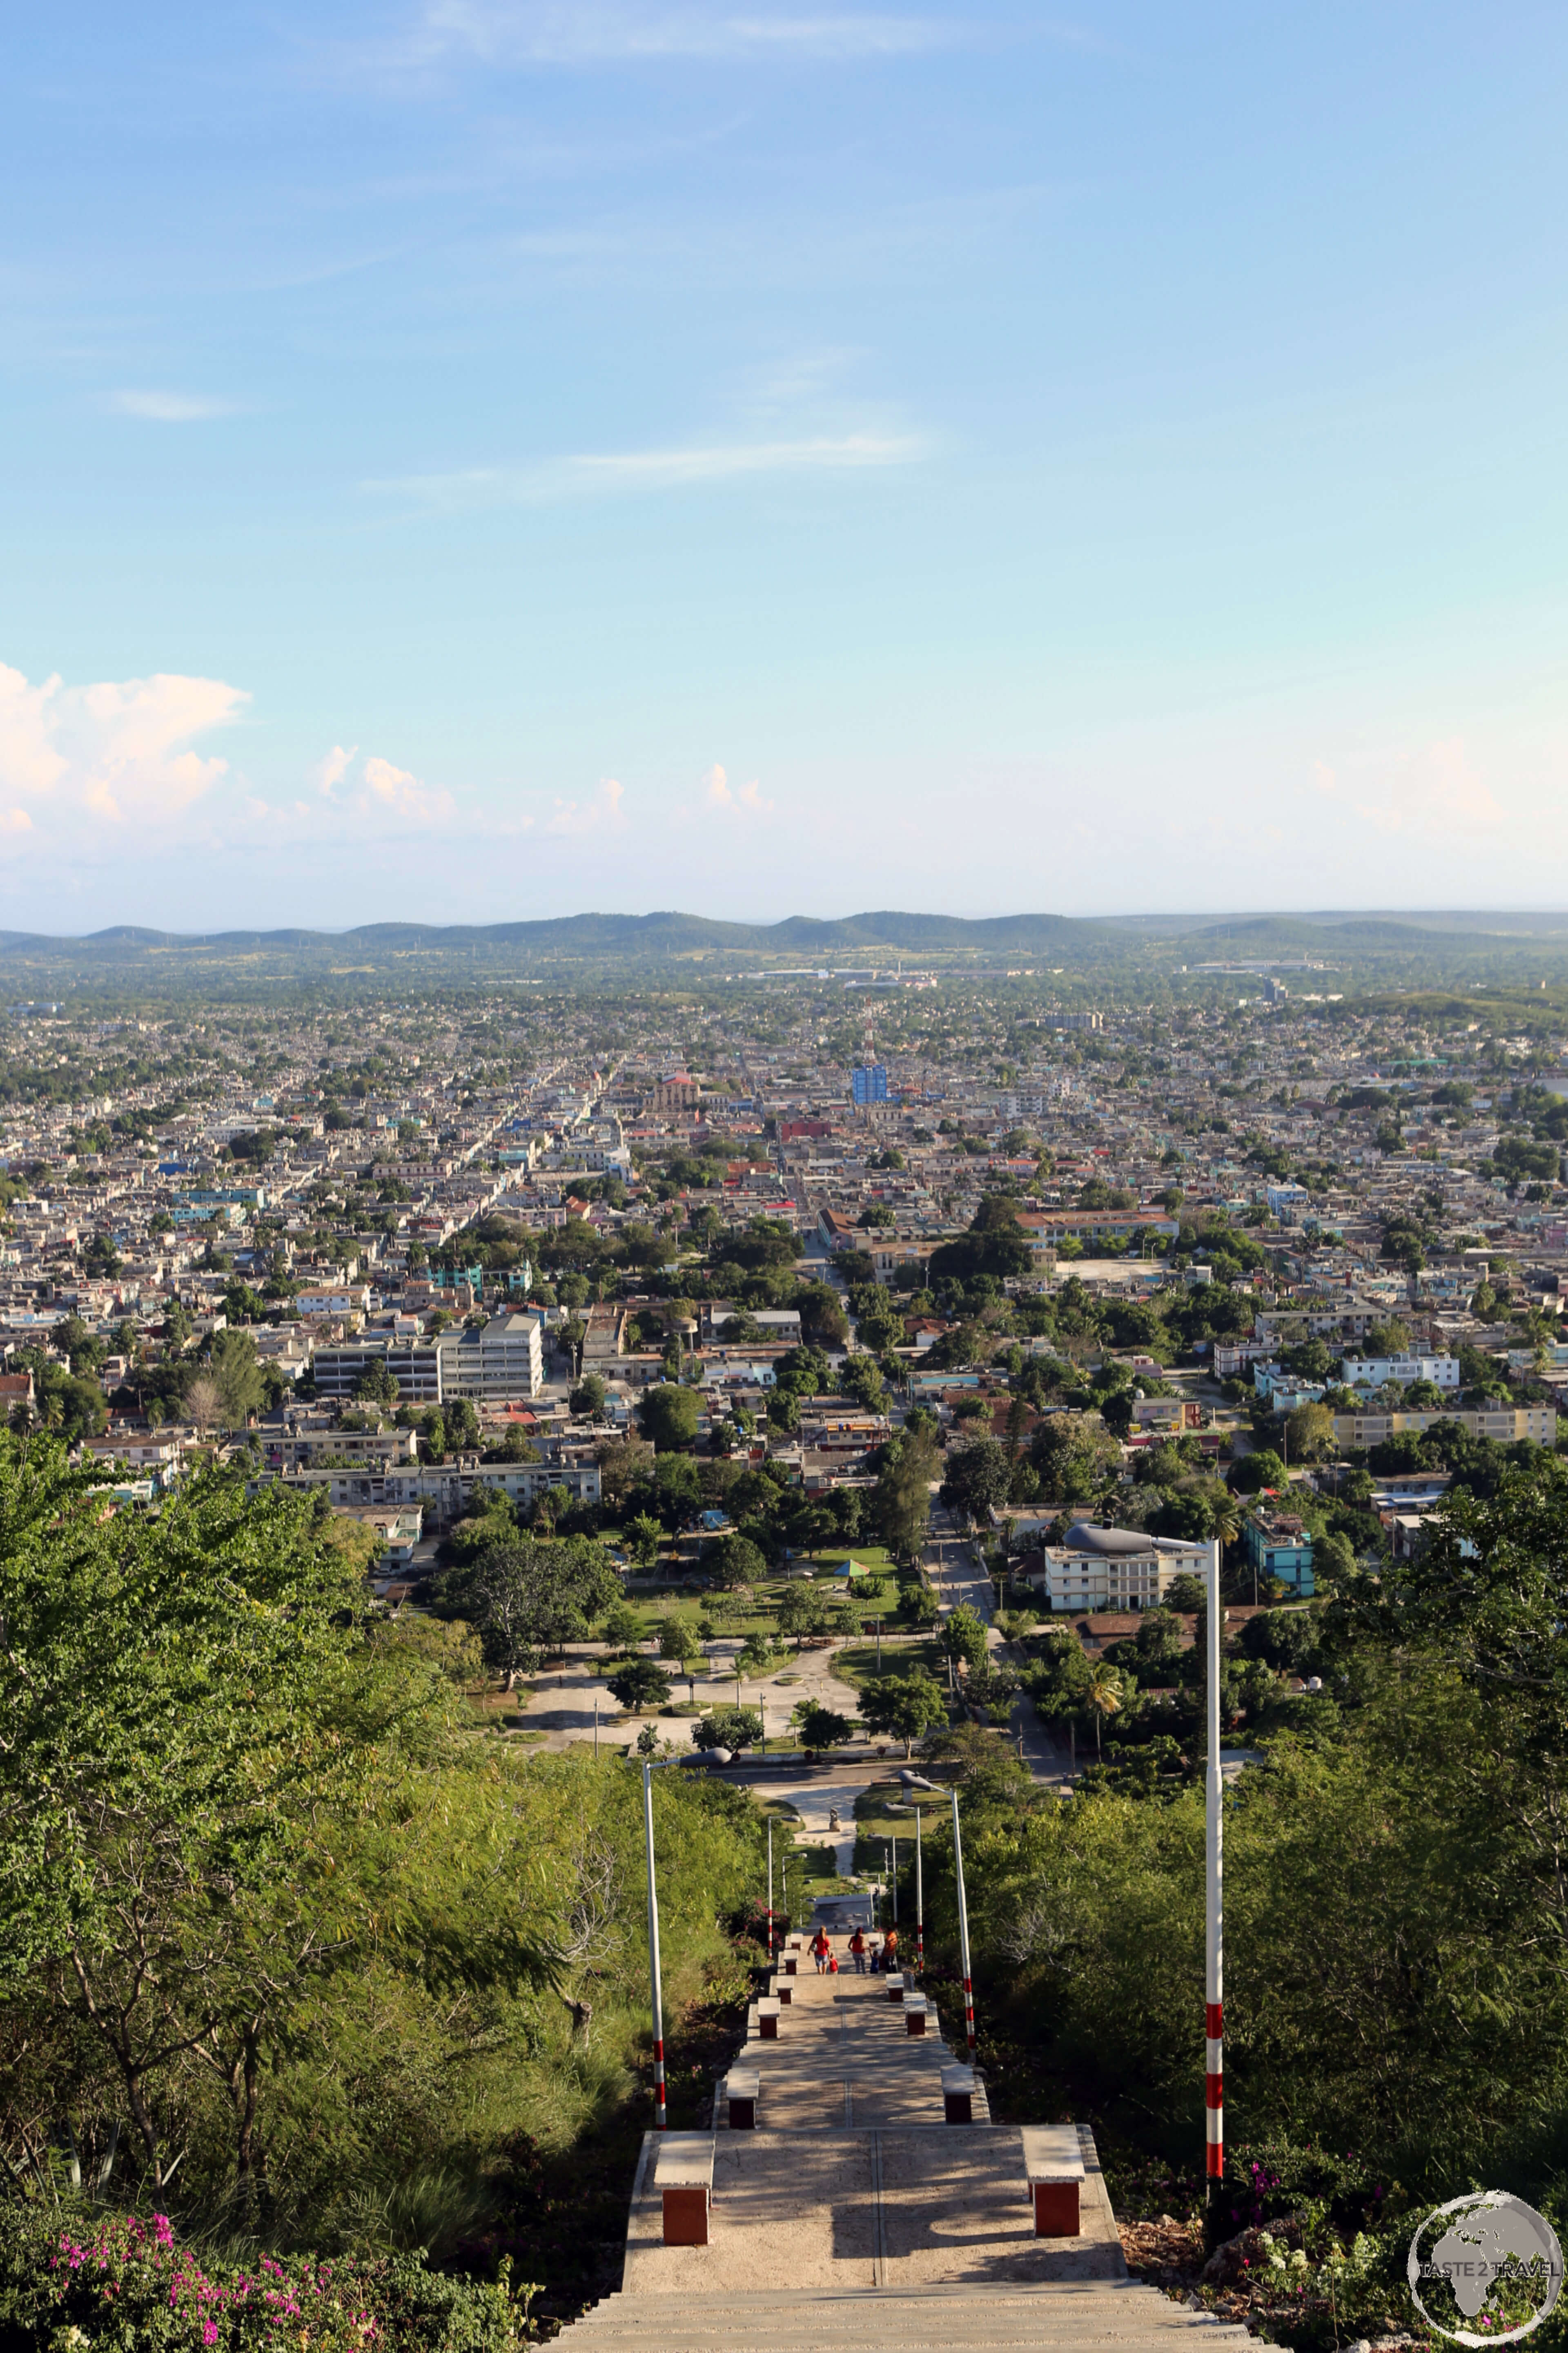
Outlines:
[[[1566,904],[1566,64],[14,19],[0,922]]]

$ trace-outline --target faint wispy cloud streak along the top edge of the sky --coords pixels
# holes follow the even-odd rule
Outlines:
[[[790,14],[703,7],[559,7],[552,0],[430,0],[404,59],[470,56],[487,66],[614,66],[639,59],[863,59],[945,49],[961,26],[943,16],[863,9]]]

